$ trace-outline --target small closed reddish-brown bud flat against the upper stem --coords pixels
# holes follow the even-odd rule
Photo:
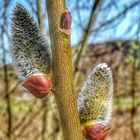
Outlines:
[[[70,34],[71,19],[71,13],[68,10],[62,13],[60,20],[60,31],[65,32],[68,35]]]

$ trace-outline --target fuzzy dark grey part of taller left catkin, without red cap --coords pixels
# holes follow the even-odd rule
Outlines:
[[[51,50],[33,17],[17,4],[11,20],[12,60],[20,79],[33,74],[49,74]]]

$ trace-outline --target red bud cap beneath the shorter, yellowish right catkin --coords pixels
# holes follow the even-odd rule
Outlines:
[[[88,140],[104,140],[110,128],[104,126],[103,124],[95,124],[86,127],[83,130],[85,138]]]

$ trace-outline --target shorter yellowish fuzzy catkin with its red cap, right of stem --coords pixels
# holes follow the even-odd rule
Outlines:
[[[89,74],[78,96],[77,105],[83,129],[86,127],[92,129],[84,133],[94,133],[95,136],[96,130],[101,129],[102,132],[95,138],[106,134],[105,130],[112,115],[112,97],[112,72],[106,63],[101,63]],[[94,137],[89,135],[89,139]]]

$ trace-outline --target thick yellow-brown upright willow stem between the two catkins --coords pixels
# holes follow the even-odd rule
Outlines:
[[[54,94],[65,140],[83,140],[73,89],[70,36],[60,29],[64,0],[46,0],[52,47]]]

